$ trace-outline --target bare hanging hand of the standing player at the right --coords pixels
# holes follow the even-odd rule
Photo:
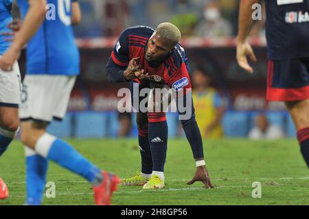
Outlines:
[[[250,46],[249,43],[238,43],[237,44],[237,62],[240,67],[244,68],[244,70],[247,70],[249,73],[253,73],[253,68],[249,65],[247,60],[247,55],[250,57],[250,59],[253,62],[256,62],[256,57],[253,53],[253,49]]]

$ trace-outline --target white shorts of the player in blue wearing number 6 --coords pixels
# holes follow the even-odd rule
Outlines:
[[[67,112],[76,76],[26,75],[23,81],[21,120],[51,122],[62,120]]]

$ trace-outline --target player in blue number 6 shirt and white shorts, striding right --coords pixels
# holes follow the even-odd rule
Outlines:
[[[62,120],[65,116],[71,89],[80,72],[80,57],[71,25],[81,19],[76,0],[72,0],[69,7],[58,5],[65,4],[64,1],[49,0],[48,3],[55,5],[58,14],[54,20],[43,21],[27,46],[27,75],[19,111],[21,141],[26,146],[25,204],[41,204],[48,162],[52,160],[87,179],[93,185],[97,205],[109,205],[119,183],[117,176],[101,172],[67,142],[46,131],[53,119]],[[18,0],[18,5],[25,18],[27,0]]]

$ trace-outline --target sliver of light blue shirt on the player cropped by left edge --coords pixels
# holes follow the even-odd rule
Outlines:
[[[10,32],[8,24],[12,22],[11,16],[12,0],[0,0],[0,33]],[[10,47],[10,42],[6,41],[7,37],[0,35],[0,55]]]

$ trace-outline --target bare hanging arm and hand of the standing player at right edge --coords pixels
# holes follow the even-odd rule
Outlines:
[[[253,53],[253,49],[247,42],[252,19],[252,5],[258,3],[259,0],[241,0],[239,17],[238,17],[238,35],[237,35],[237,61],[240,67],[247,70],[249,73],[253,73],[253,68],[248,64],[247,55],[253,62],[256,62],[256,57]]]

